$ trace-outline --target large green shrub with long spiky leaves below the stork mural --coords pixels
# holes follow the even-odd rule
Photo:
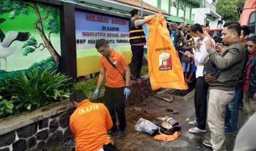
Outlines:
[[[1,89],[9,92],[14,104],[13,114],[45,106],[46,104],[61,101],[69,97],[69,93],[64,91],[69,85],[67,75],[48,71],[48,66],[43,71],[31,69],[28,73],[23,72],[17,76],[6,75],[5,86]]]

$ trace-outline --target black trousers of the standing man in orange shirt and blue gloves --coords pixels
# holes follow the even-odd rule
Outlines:
[[[118,116],[119,125],[118,128],[121,131],[126,129],[126,113],[125,113],[125,96],[123,94],[124,87],[121,88],[110,88],[105,86],[105,106],[110,112],[110,116],[113,122],[113,127],[110,129],[111,131],[117,130],[116,126],[116,112]]]

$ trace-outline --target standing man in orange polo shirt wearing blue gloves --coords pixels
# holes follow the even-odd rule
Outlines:
[[[95,48],[102,55],[100,59],[100,75],[94,96],[99,95],[102,82],[106,77],[106,86],[104,99],[105,105],[110,112],[113,127],[107,132],[108,135],[114,135],[117,132],[117,138],[124,138],[124,129],[126,129],[125,100],[130,95],[130,69],[122,53],[110,48],[106,39],[96,41]],[[126,73],[126,81],[123,74]],[[119,125],[116,125],[116,112]]]

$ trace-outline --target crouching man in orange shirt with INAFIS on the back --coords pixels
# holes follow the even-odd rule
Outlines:
[[[110,113],[104,104],[91,103],[87,98],[82,90],[74,90],[70,95],[70,101],[77,108],[69,120],[75,150],[117,150],[107,136],[107,130],[112,127]]]

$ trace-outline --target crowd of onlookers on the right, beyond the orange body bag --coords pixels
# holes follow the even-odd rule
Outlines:
[[[186,24],[186,23],[185,23]],[[238,132],[239,103],[243,105],[244,123],[252,129],[256,116],[256,36],[249,37],[249,27],[229,22],[224,25],[222,34],[213,36],[204,32],[203,25],[169,24],[170,38],[179,54],[184,79],[191,82],[193,72],[197,83],[195,85],[194,104],[196,118],[189,122],[195,125],[190,133],[206,132],[206,117],[211,131],[211,140],[203,141],[205,146],[213,150],[226,150],[225,134]],[[206,27],[209,30],[210,27]],[[213,82],[206,82],[203,75],[204,65],[209,59],[220,72]],[[209,91],[209,106],[207,94]],[[243,131],[246,131],[244,128]],[[238,133],[237,140],[248,135],[248,132]],[[249,135],[253,138],[252,135]],[[243,142],[245,142],[243,140]],[[249,141],[251,142],[251,141]],[[236,141],[236,143],[241,144]],[[248,143],[247,143],[248,144]],[[256,149],[255,144],[235,146],[234,150]]]

